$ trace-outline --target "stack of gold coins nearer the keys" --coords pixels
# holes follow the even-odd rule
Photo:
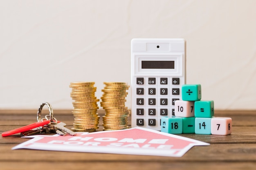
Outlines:
[[[74,132],[95,132],[99,128],[99,109],[97,102],[99,99],[95,97],[97,87],[94,87],[95,82],[71,82],[70,87],[72,92],[70,97],[74,109]]]

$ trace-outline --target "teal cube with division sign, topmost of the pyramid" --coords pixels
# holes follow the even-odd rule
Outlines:
[[[182,100],[198,101],[202,97],[200,84],[184,84],[182,85]]]

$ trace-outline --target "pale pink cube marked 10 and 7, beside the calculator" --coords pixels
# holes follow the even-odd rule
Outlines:
[[[176,100],[174,106],[175,116],[178,117],[194,117],[194,102]]]

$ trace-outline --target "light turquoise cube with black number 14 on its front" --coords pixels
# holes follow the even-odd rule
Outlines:
[[[196,117],[195,118],[195,134],[211,135],[211,117]]]

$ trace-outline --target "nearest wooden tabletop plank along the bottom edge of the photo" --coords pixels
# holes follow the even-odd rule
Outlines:
[[[2,170],[36,170],[47,167],[61,170],[255,170],[254,162],[0,162]]]

